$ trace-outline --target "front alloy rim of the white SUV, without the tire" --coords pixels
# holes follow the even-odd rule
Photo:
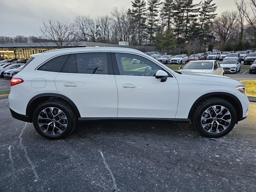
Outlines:
[[[230,111],[224,106],[211,106],[204,111],[201,117],[201,125],[207,132],[218,134],[228,128],[231,122]]]

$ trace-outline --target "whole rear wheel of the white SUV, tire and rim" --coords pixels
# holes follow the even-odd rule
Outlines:
[[[76,122],[72,108],[65,102],[55,100],[40,104],[33,115],[36,131],[52,140],[68,136],[74,130]]]

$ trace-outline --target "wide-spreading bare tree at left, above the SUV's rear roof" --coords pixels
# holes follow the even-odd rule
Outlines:
[[[44,38],[52,40],[57,48],[77,46],[79,44],[77,34],[68,20],[60,22],[59,20],[52,20],[50,18],[47,22],[43,21],[40,33]],[[71,45],[71,42],[74,43]]]

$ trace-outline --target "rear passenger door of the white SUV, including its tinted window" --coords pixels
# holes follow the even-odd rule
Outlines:
[[[81,117],[117,117],[117,88],[109,52],[71,54],[55,84],[59,94],[76,104]]]

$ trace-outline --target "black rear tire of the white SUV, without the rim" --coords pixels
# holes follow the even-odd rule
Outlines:
[[[67,126],[66,126],[66,129],[60,134],[56,134],[56,135],[47,134],[40,128],[38,124],[38,116],[40,112],[49,107],[58,108],[62,110],[62,112],[64,112],[64,114],[66,115],[66,119],[68,121]],[[33,125],[36,131],[43,137],[51,140],[58,140],[68,136],[76,127],[76,123],[77,123],[77,117],[74,111],[72,110],[72,108],[69,106],[69,104],[67,104],[66,102],[58,101],[58,100],[49,100],[47,102],[40,104],[39,106],[37,106],[33,114]]]

